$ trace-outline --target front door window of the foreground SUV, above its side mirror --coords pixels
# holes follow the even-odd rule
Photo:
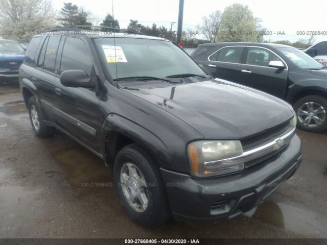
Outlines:
[[[63,46],[60,74],[65,70],[84,70],[91,77],[93,63],[85,43],[78,38],[67,37]]]

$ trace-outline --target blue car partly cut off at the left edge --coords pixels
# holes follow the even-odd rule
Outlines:
[[[18,42],[0,39],[0,80],[17,79],[24,57],[25,50]]]

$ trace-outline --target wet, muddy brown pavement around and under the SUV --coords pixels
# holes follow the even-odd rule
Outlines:
[[[37,138],[18,85],[0,84],[0,237],[327,238],[327,132],[297,133],[299,170],[257,208],[145,229],[125,214],[104,162],[62,133]]]

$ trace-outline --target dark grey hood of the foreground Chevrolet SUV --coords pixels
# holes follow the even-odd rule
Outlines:
[[[205,139],[241,139],[293,117],[292,108],[274,96],[230,82],[212,80],[166,87],[134,87],[132,93],[168,111]],[[171,84],[169,84],[171,85]],[[133,87],[130,87],[133,86]]]

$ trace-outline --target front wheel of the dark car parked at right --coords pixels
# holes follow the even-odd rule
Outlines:
[[[297,128],[309,132],[327,129],[327,99],[319,95],[309,95],[294,104]]]

